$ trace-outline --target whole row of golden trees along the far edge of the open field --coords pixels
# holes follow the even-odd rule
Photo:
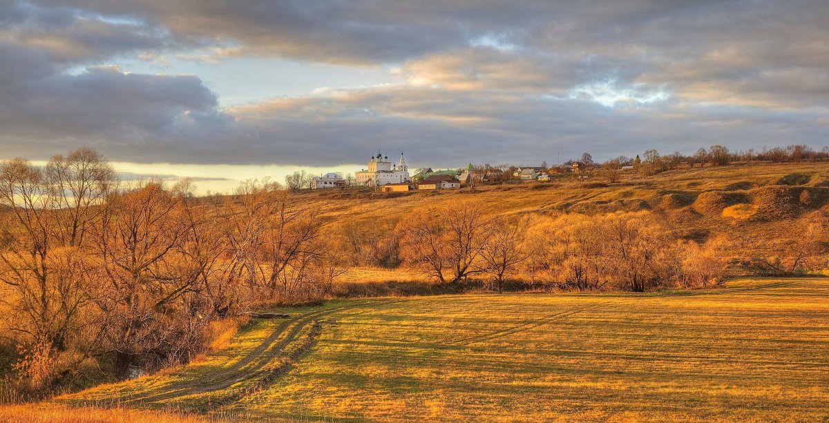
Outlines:
[[[683,237],[649,210],[585,215],[492,215],[459,200],[415,210],[395,223],[332,228],[351,265],[419,269],[440,284],[507,282],[530,289],[652,291],[714,286],[734,272],[784,276],[827,265],[829,222],[817,213],[779,222],[765,240]],[[749,256],[741,257],[741,252]]]

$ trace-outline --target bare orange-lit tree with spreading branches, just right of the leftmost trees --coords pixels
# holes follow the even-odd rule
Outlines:
[[[182,201],[149,181],[109,198],[95,228],[95,253],[107,295],[98,305],[109,317],[105,335],[125,376],[138,358],[165,359],[180,335],[170,324],[192,286],[181,278],[172,252],[187,234]]]

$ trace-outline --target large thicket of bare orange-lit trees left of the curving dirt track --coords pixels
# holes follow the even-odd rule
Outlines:
[[[212,321],[259,301],[327,295],[343,272],[322,248],[317,212],[278,184],[246,181],[236,195],[192,199],[183,181],[120,185],[81,148],[46,166],[0,165],[3,330],[32,387],[108,363],[186,363]]]

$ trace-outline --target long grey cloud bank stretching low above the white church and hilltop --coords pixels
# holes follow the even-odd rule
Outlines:
[[[659,109],[611,109],[589,101],[520,93],[447,96],[439,89],[387,89],[383,94],[371,90],[346,97],[334,104],[330,99],[316,104],[302,99],[308,117],[317,107],[327,117],[318,121],[283,116],[283,108],[300,108],[299,100],[235,113],[241,125],[258,128],[262,139],[273,139],[282,151],[291,151],[293,163],[307,166],[361,163],[377,148],[408,151],[411,161],[425,165],[458,166],[465,161],[552,162],[559,154],[563,161],[583,151],[608,158],[651,147],[692,152],[715,143],[732,148],[813,144],[817,133],[827,132],[816,127],[817,112],[781,116],[762,108],[688,110],[675,103]],[[250,121],[245,116],[257,118]],[[803,125],[816,127],[815,132],[802,131]],[[274,154],[277,151],[274,148]]]

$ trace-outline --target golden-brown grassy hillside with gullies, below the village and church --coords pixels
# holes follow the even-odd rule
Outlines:
[[[475,189],[376,193],[370,189],[302,191],[297,204],[318,210],[336,234],[344,225],[390,233],[418,209],[438,209],[473,199],[487,216],[520,219],[561,213],[604,214],[650,211],[675,238],[730,243],[727,256],[738,262],[775,255],[778,245],[796,237],[829,204],[829,163],[732,164],[667,171],[652,176],[623,174],[615,184],[601,175],[560,175],[550,182],[480,185]],[[335,237],[331,238],[336,239]],[[738,269],[750,274],[745,269]],[[394,272],[357,268],[347,281],[409,281],[409,269]]]

